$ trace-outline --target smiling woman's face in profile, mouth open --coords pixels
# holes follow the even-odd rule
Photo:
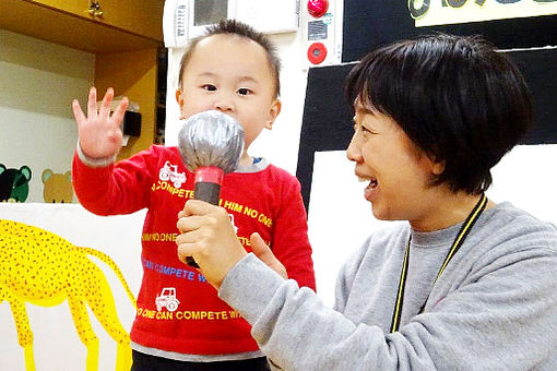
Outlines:
[[[354,135],[347,156],[356,176],[368,181],[364,196],[382,220],[422,223],[430,215],[442,165],[432,161],[389,116],[355,105]],[[435,203],[435,202],[434,202]]]

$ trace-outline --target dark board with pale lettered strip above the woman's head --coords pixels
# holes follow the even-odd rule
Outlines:
[[[422,34],[483,35],[499,49],[557,45],[555,0],[351,0],[344,2],[342,61]]]

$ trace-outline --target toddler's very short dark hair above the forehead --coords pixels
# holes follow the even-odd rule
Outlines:
[[[269,67],[271,68],[275,85],[274,96],[277,97],[281,95],[281,81],[280,81],[281,60],[278,58],[276,47],[271,43],[266,35],[256,31],[253,27],[247,25],[246,23],[236,20],[221,20],[218,23],[209,26],[202,36],[194,38],[190,43],[188,49],[186,50],[181,58],[178,86],[181,86],[183,70],[186,69],[186,65],[188,64],[191,56],[193,55],[193,51],[195,50],[195,46],[198,45],[198,43],[213,35],[236,35],[240,37],[246,37],[250,40],[256,41],[263,49],[265,49]]]

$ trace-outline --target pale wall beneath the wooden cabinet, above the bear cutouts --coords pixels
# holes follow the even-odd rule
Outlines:
[[[0,29],[0,164],[31,168],[27,202],[44,201],[43,170],[71,169],[70,104],[86,101],[94,72],[94,55]]]

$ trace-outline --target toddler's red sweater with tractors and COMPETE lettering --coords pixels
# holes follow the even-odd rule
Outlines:
[[[226,175],[221,206],[230,214],[247,251],[251,250],[250,235],[259,232],[288,277],[315,290],[299,182],[273,165],[260,168]],[[92,213],[129,214],[147,207],[142,232],[143,279],[130,334],[134,343],[185,355],[258,349],[249,324],[218,299],[199,271],[178,260],[177,215],[193,198],[194,176],[183,166],[177,147],[154,145],[103,168],[87,167],[75,154],[72,170],[80,203]]]

